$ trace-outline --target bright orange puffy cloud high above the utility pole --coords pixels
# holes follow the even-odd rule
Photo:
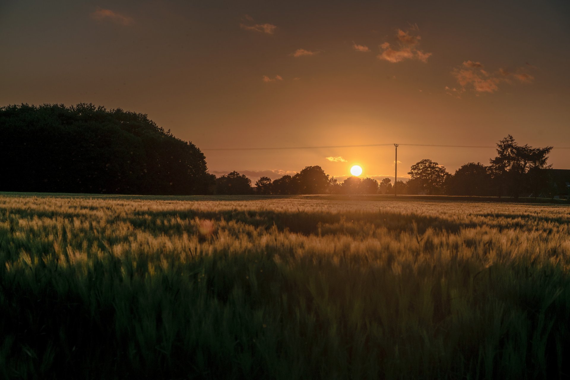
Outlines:
[[[402,62],[406,59],[417,59],[427,63],[431,53],[418,50],[417,46],[420,44],[421,36],[413,33],[419,30],[417,24],[410,24],[409,30],[397,29],[396,40],[398,46],[392,47],[389,42],[382,43],[379,46],[381,53],[377,55],[377,58],[391,63]]]

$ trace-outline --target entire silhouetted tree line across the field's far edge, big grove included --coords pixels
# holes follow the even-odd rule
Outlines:
[[[539,194],[552,146],[497,144],[489,165],[470,162],[454,174],[431,160],[412,165],[399,194]],[[93,104],[0,108],[0,191],[111,194],[393,194],[390,178],[342,183],[318,166],[255,183],[232,171],[215,178],[196,145],[173,136],[143,113]]]

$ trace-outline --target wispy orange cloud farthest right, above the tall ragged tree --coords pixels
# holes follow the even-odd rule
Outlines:
[[[499,84],[512,84],[511,78],[521,83],[531,83],[534,76],[528,73],[529,67],[519,67],[514,72],[499,68],[496,72],[489,72],[483,69],[481,62],[471,60],[463,61],[461,66],[457,66],[451,71],[451,75],[455,77],[457,83],[461,85],[461,89],[450,88],[446,86],[447,94],[461,98],[461,94],[467,89],[473,89],[475,92],[494,93],[499,91]]]

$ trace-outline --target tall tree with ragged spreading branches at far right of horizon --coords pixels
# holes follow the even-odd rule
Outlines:
[[[532,148],[532,146],[518,145],[510,134],[500,140],[497,145],[497,157],[491,158],[491,171],[499,186],[499,197],[504,191],[515,199],[524,191],[524,179],[531,172],[531,177],[540,179],[536,173],[541,169],[549,169],[547,165],[548,154],[552,146],[545,148]],[[535,186],[536,187],[536,186]]]

